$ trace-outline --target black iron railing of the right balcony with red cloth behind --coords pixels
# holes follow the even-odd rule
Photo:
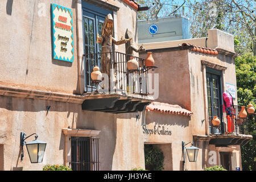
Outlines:
[[[225,109],[225,114],[223,110]],[[249,134],[249,122],[246,118],[240,118],[241,106],[229,105],[224,108],[223,105],[208,106],[208,121],[210,134]],[[212,120],[217,115],[220,119],[219,126],[213,126]]]

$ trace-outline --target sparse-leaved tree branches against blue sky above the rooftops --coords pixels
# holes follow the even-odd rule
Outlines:
[[[210,28],[217,28],[235,36],[236,52],[256,55],[255,1],[250,0],[139,0],[149,11],[142,11],[138,19],[160,18],[181,14],[191,20],[192,38],[207,36]]]

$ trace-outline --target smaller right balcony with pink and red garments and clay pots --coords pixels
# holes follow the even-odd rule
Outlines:
[[[240,118],[241,106],[237,105],[230,105],[229,114],[223,113],[222,108],[222,105],[208,107],[209,133],[211,135],[209,144],[228,146],[249,142],[252,139],[252,136],[249,135],[251,128],[249,117],[253,117],[253,115],[247,113],[246,118]],[[217,115],[218,119],[220,119],[219,126],[213,126],[212,124],[214,115]]]

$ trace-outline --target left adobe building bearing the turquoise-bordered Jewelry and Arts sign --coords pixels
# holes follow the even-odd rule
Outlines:
[[[144,167],[139,123],[152,98],[129,94],[125,86],[111,94],[86,90],[97,87],[90,72],[100,65],[96,39],[105,17],[112,15],[113,38],[125,38],[129,29],[136,43],[139,7],[128,0],[1,2],[0,170],[42,170],[45,164],[73,170]],[[114,53],[125,56],[125,46],[114,45]],[[47,143],[42,163],[30,162],[25,145],[21,160],[20,133],[36,133]]]

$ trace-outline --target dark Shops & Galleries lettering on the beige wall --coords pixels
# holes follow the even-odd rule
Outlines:
[[[142,126],[143,129],[143,134],[146,135],[172,135],[172,131],[168,130],[165,126],[163,125],[157,125],[155,124],[154,128],[147,128],[147,125]]]

